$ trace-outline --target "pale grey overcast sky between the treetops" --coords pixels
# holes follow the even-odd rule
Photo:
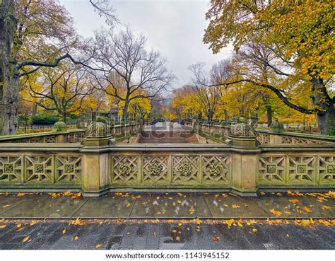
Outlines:
[[[94,30],[105,25],[88,0],[59,0],[71,13],[78,33],[92,36]],[[205,62],[207,69],[214,62],[230,56],[225,48],[212,54],[202,37],[207,21],[205,13],[209,0],[111,0],[121,23],[128,24],[136,33],[148,37],[148,47],[167,58],[168,66],[177,76],[174,88],[189,83],[187,67]]]

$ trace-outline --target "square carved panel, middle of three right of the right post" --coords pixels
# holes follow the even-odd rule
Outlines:
[[[288,177],[293,182],[315,182],[315,157],[289,157]]]

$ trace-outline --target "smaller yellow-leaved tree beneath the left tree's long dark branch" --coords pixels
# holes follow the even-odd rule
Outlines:
[[[26,81],[35,103],[45,110],[58,112],[63,122],[78,115],[83,101],[94,92],[88,73],[80,66],[62,63],[57,68],[45,68],[34,81]]]

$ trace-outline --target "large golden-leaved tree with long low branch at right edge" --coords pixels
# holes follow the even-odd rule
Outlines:
[[[252,74],[240,75],[236,82],[267,88],[283,103],[305,114],[315,114],[322,134],[335,132],[334,4],[331,1],[234,1],[211,0],[206,13],[209,21],[204,42],[214,53],[229,43],[235,50],[247,42],[262,44],[274,59],[257,57],[278,76],[264,81]],[[307,89],[307,91],[305,91]],[[294,103],[288,90],[309,93],[310,106]]]

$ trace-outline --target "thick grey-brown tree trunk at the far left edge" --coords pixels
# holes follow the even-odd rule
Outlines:
[[[11,57],[13,32],[16,27],[13,0],[0,3],[0,100],[1,134],[15,134],[18,129],[19,74]]]

